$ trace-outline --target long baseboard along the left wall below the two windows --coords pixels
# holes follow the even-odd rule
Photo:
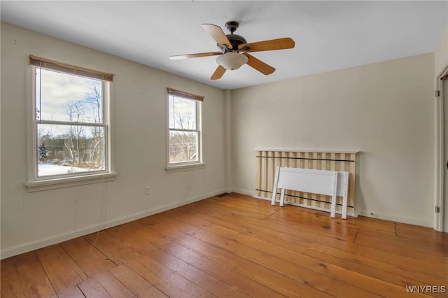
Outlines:
[[[74,239],[80,236],[85,236],[92,234],[94,232],[101,231],[103,229],[108,229],[109,227],[116,227],[117,225],[122,225],[126,222],[131,222],[132,220],[138,220],[140,218],[145,218],[146,216],[167,211],[179,206],[193,203],[195,201],[200,201],[202,199],[207,199],[213,197],[217,194],[222,194],[223,192],[228,192],[228,190],[218,190],[216,192],[210,192],[209,194],[204,194],[198,197],[193,197],[183,201],[177,201],[173,204],[167,204],[165,206],[160,206],[158,208],[149,209],[139,213],[134,213],[131,215],[124,216],[123,218],[116,218],[114,220],[109,220],[107,222],[102,222],[96,225],[90,225],[83,227],[81,229],[76,229],[74,231],[48,236],[42,239],[36,239],[34,241],[29,241],[27,243],[21,243],[17,246],[11,246],[9,248],[3,248],[0,253],[0,260],[6,259],[7,257],[13,257],[14,255],[20,255],[22,253],[28,253],[31,250],[36,250],[39,248],[44,248],[45,246],[51,246],[56,243]]]

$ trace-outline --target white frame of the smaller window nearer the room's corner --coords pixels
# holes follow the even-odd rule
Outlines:
[[[172,129],[169,127],[169,98],[173,96],[182,97],[183,99],[188,99],[195,101],[196,104],[196,129]],[[202,150],[202,103],[204,101],[204,97],[188,92],[183,92],[181,90],[176,90],[173,88],[167,88],[167,166],[166,171],[168,173],[173,171],[186,171],[190,169],[198,169],[203,168],[205,166],[204,163],[204,154]],[[172,131],[182,131],[182,132],[197,132],[197,155],[198,158],[192,162],[169,162],[169,132]]]

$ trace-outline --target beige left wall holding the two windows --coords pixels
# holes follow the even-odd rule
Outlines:
[[[27,192],[29,54],[116,74],[115,181]],[[167,87],[205,96],[204,169],[165,172]],[[223,90],[2,23],[1,257],[225,192],[224,111]]]

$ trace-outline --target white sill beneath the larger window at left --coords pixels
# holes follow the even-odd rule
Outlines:
[[[117,175],[118,173],[101,173],[88,176],[37,180],[26,182],[25,186],[27,187],[28,192],[40,192],[41,190],[54,190],[56,188],[109,182],[115,180]]]

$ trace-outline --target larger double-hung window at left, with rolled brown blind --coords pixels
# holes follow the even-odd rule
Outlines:
[[[113,75],[30,56],[34,179],[108,173]]]

